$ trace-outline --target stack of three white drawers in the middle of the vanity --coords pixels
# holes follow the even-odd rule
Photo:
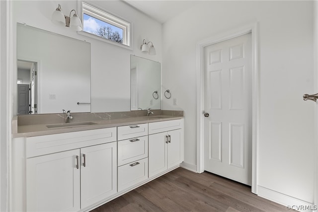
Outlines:
[[[148,179],[148,124],[121,126],[118,140],[118,192]],[[135,137],[138,136],[138,137]]]

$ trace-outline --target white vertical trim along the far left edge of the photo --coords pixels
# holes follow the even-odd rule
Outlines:
[[[0,211],[9,211],[10,201],[10,157],[11,157],[11,118],[12,118],[12,66],[13,36],[11,1],[1,1],[0,34]]]

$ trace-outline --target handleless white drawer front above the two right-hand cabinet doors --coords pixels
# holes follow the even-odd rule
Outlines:
[[[149,135],[183,128],[183,119],[149,123]]]

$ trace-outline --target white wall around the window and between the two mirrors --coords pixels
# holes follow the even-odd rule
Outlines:
[[[51,23],[52,13],[59,3],[64,14],[69,15],[72,9],[78,8],[77,0],[12,1],[13,40],[16,40],[16,22],[20,22],[90,42],[91,112],[130,111],[130,55],[161,62],[161,24],[120,0],[89,2],[132,23],[133,50],[94,40]],[[143,39],[153,41],[157,55],[141,53]],[[13,73],[13,78],[16,78],[16,73]],[[16,89],[13,95],[16,95]]]

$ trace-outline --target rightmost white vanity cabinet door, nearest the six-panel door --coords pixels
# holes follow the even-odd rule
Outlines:
[[[183,136],[181,130],[173,130],[168,134],[168,169],[183,161]]]

